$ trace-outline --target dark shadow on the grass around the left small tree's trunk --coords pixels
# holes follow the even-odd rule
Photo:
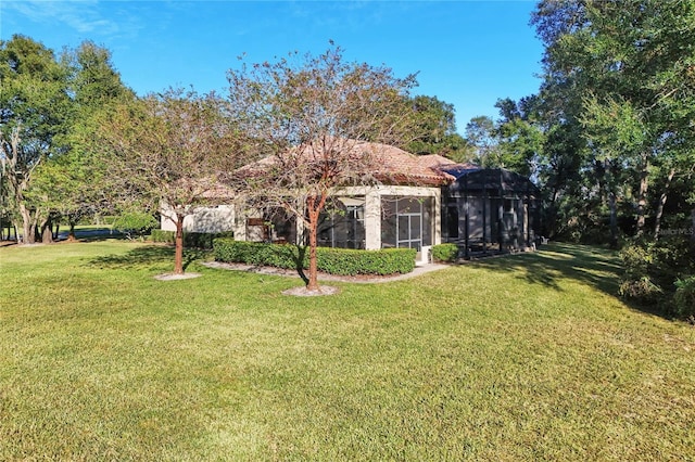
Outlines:
[[[105,255],[90,260],[90,265],[101,268],[129,269],[143,268],[160,264],[174,266],[174,247],[169,245],[147,245],[132,248],[123,255]],[[199,248],[184,249],[184,270],[195,260],[206,258],[210,251]]]

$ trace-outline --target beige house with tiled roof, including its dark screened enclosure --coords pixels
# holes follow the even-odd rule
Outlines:
[[[417,249],[419,262],[429,260],[432,245],[444,242],[458,244],[467,257],[531,246],[539,195],[528,179],[379,143],[356,141],[350,149],[372,154],[374,181],[340,189],[321,216],[319,245],[410,247]],[[268,162],[261,161],[255,168]],[[218,206],[201,207],[187,217],[185,230],[233,231],[237,240],[302,243],[301,222],[283,209],[242,210],[222,195]],[[163,218],[162,229],[173,227]]]

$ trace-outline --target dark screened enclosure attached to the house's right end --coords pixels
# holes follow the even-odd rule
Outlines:
[[[442,242],[460,255],[532,248],[540,230],[540,192],[526,177],[503,168],[445,166],[456,178],[442,194]]]

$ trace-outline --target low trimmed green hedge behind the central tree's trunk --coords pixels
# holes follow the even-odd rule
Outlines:
[[[214,253],[217,261],[271,266],[286,269],[308,268],[308,248],[287,244],[242,242],[216,239]],[[318,247],[318,270],[330,274],[397,274],[415,268],[415,249],[388,248],[380,251],[353,251]]]

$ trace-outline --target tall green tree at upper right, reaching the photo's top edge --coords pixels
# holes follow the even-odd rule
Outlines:
[[[604,137],[596,143],[594,137],[585,147],[598,150],[589,157],[620,152],[622,162],[631,167],[627,171],[633,174],[622,190],[628,193],[624,198],[634,197],[634,222],[637,233],[643,233],[652,177],[671,171],[654,170],[652,165],[661,164],[664,157],[680,156],[677,153],[682,150],[668,146],[692,139],[694,2],[548,0],[539,3],[532,23],[546,46],[543,91],[559,97],[555,98],[560,102],[556,106],[560,107],[558,124],[583,120],[589,128],[586,121],[593,119],[585,138],[591,138],[591,132],[626,132],[641,126],[641,143],[626,144],[617,137]],[[619,107],[630,111],[616,117],[612,111]],[[597,126],[601,120],[607,124],[603,128]]]

